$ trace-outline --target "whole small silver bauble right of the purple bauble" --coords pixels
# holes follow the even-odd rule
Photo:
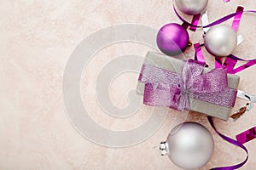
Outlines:
[[[230,55],[236,48],[236,32],[225,25],[212,26],[204,38],[207,51],[215,56]]]

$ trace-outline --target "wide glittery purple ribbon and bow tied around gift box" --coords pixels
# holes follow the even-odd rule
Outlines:
[[[177,111],[189,110],[189,99],[233,107],[237,90],[228,87],[227,71],[216,68],[203,74],[205,64],[194,59],[183,63],[181,74],[143,65],[139,82],[145,84],[143,103],[166,106]]]

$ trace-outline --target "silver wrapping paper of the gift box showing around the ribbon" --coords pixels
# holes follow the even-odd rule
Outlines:
[[[168,57],[164,54],[155,53],[155,52],[148,52],[146,59],[144,60],[144,65],[153,65],[156,67],[160,67],[161,69],[165,69],[167,71],[176,72],[180,75],[183,66],[183,60],[176,59],[173,57]],[[205,68],[203,73],[207,73],[211,71],[209,68]],[[228,86],[229,88],[237,89],[240,77],[236,75],[228,74]],[[137,94],[143,95],[144,94],[144,83],[138,82],[137,83]],[[195,112],[200,112],[206,114],[208,116],[218,117],[227,121],[229,119],[230,113],[232,108],[226,107],[223,105],[217,105],[213,103],[209,103],[207,101],[189,98],[190,103],[190,110]]]

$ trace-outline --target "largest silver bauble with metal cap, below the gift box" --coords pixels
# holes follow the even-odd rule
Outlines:
[[[211,159],[214,142],[206,127],[195,122],[177,125],[168,135],[166,142],[160,144],[162,155],[183,169],[192,170],[203,167]]]

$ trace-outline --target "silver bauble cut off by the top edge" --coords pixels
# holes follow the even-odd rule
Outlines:
[[[206,8],[208,0],[175,0],[177,8],[184,14],[201,14]]]

